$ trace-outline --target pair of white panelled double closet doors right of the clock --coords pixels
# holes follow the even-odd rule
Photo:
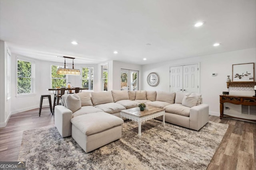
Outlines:
[[[170,67],[170,92],[199,93],[198,64]]]

